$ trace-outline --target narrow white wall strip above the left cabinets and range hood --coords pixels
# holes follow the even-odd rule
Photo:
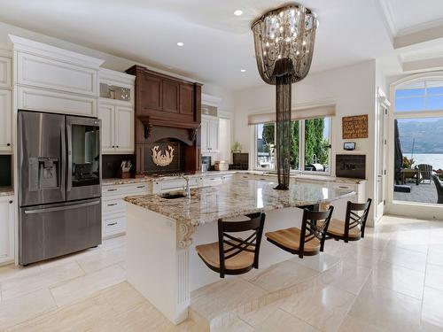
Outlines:
[[[66,42],[58,38],[53,38],[49,35],[38,34],[35,33],[34,31],[30,31],[27,29],[23,29],[21,27],[15,27],[10,24],[6,24],[4,22],[0,22],[0,42],[9,42],[8,35],[18,35],[20,37],[28,38],[36,42],[44,42],[65,50],[72,50],[74,52],[82,53],[90,57],[100,58],[102,60],[105,60],[105,64],[103,65],[103,67],[116,70],[119,72],[124,72],[129,67],[134,65],[146,66],[144,64],[138,63],[128,58],[116,57],[113,56],[112,54],[101,52],[99,50],[92,50],[82,45],[75,44],[73,42]],[[178,78],[183,78],[185,80],[198,81],[197,79],[192,77],[183,77],[182,75],[167,72],[159,68],[154,68],[152,66],[146,66],[146,67],[159,73],[166,73],[168,75],[175,76]],[[230,91],[229,89],[223,89],[214,84],[205,84],[204,81],[200,82],[204,84],[202,88],[203,93],[206,93],[208,95],[213,95],[216,97],[221,97],[221,105],[220,105],[221,110],[227,112],[232,112],[234,110],[234,102],[233,102],[234,94],[232,91]]]

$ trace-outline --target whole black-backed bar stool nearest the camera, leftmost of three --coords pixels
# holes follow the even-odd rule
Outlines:
[[[225,274],[245,274],[253,268],[259,268],[265,218],[264,212],[258,212],[232,219],[219,219],[219,241],[196,246],[198,256],[221,278]],[[245,239],[229,234],[246,231],[251,234]]]

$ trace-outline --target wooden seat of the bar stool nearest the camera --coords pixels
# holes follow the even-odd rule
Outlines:
[[[240,243],[235,243],[232,240],[230,242],[234,244]],[[223,246],[225,251],[232,248],[232,245],[229,245],[227,243],[224,243]],[[220,251],[218,242],[198,245],[197,247],[195,247],[195,249],[200,259],[203,259],[207,266],[212,266],[217,269],[220,268]],[[249,249],[251,249],[252,251],[254,250],[253,247],[249,247]],[[228,270],[243,269],[253,265],[254,257],[254,252],[242,251],[236,256],[231,257],[230,259],[225,259],[224,265]]]

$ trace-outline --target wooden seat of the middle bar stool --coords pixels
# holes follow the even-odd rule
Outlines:
[[[286,228],[279,229],[275,232],[268,232],[265,234],[270,243],[276,244],[276,246],[287,248],[288,251],[299,251],[301,230],[299,228]],[[311,240],[305,243],[305,255],[315,255],[320,251],[321,242],[313,237]]]

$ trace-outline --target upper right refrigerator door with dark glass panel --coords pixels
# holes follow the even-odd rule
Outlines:
[[[101,196],[101,120],[66,116],[66,200]]]

